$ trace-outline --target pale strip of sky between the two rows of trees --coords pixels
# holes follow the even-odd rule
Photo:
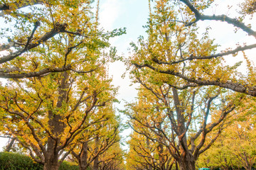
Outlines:
[[[115,28],[127,28],[127,33],[111,40],[112,46],[117,47],[117,54],[124,57],[129,55],[129,43],[137,42],[139,35],[146,35],[142,26],[146,25],[149,15],[148,1],[146,0],[101,0],[99,22],[100,26],[105,30],[113,30]],[[117,109],[124,109],[126,102],[133,102],[137,96],[138,85],[132,85],[129,74],[126,73],[126,67],[122,62],[114,62],[109,67],[110,76],[113,78],[112,84],[119,86],[119,94],[117,99],[119,104],[115,104]],[[125,77],[122,78],[122,75]],[[117,112],[118,114],[118,112]],[[121,114],[123,123],[126,123],[127,117]],[[125,144],[131,129],[122,132],[122,148],[128,149]]]

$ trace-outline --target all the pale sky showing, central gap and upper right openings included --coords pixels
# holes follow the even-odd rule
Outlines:
[[[206,11],[208,15],[220,15],[225,14],[230,17],[235,16],[236,11],[228,10],[227,5],[230,0],[217,0],[216,4],[221,5],[213,6]],[[233,4],[238,4],[242,0],[233,0]],[[110,40],[112,46],[117,47],[118,55],[129,55],[129,43],[137,42],[139,35],[146,36],[145,29],[142,26],[146,25],[147,18],[149,16],[148,0],[100,0],[100,27],[105,30],[113,30],[115,28],[127,28],[127,34],[113,38]],[[250,22],[252,23],[252,22]],[[247,42],[248,44],[255,43],[255,38],[247,36],[242,31],[234,33],[235,28],[228,23],[215,22],[215,21],[203,21],[198,22],[201,28],[198,30],[203,31],[207,26],[211,26],[210,37],[215,38],[215,42],[222,45],[220,49],[224,50],[225,47],[235,47],[236,42]],[[253,26],[252,26],[253,28]],[[248,50],[247,54],[253,56],[255,50]],[[238,62],[236,58],[228,57],[228,63]],[[252,58],[252,60],[255,60]],[[255,60],[256,61],[256,60]],[[109,73],[113,77],[114,86],[119,86],[119,94],[117,98],[121,101],[116,107],[119,109],[124,108],[125,101],[136,101],[137,91],[135,88],[138,85],[130,86],[129,74],[122,79],[122,74],[126,71],[126,67],[122,62],[114,62],[110,64]],[[122,117],[124,120],[124,116]],[[127,139],[131,130],[126,130],[122,134],[123,139]],[[0,137],[0,150],[6,145],[7,140]],[[127,147],[124,147],[127,149]]]

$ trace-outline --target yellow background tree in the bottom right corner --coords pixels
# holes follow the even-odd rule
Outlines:
[[[198,164],[211,168],[252,169],[255,166],[255,101],[240,114],[233,116],[228,128],[206,153],[199,157]]]

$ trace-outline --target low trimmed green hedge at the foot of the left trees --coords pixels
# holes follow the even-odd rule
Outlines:
[[[78,170],[70,162],[63,162],[59,170]],[[11,152],[0,152],[0,170],[43,170],[43,165],[33,162],[31,157]]]

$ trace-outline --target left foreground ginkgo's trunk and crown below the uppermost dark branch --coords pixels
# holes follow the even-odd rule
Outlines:
[[[1,86],[4,132],[17,137],[31,157],[44,164],[44,169],[58,169],[73,149],[65,151],[65,148],[75,146],[80,132],[106,119],[102,114],[85,124],[90,115],[99,113],[97,108],[111,103],[116,93],[101,65],[107,57],[102,57],[100,50],[106,45],[98,35],[81,42],[73,35],[59,34],[47,47],[41,48],[42,62],[33,55],[26,60],[11,61],[11,65],[24,68],[27,62],[32,62],[35,69],[46,64],[62,67],[75,62],[75,69],[79,70],[52,73],[48,77],[10,79]]]

